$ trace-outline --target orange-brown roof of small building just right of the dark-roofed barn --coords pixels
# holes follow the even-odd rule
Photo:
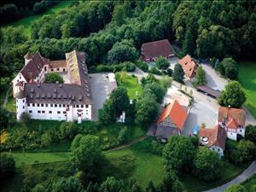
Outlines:
[[[178,61],[178,63],[183,67],[184,73],[186,73],[189,78],[193,78],[195,76],[195,71],[198,65],[190,55],[185,55]]]

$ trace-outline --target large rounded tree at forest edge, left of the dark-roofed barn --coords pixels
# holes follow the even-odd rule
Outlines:
[[[137,59],[137,50],[130,41],[124,40],[113,45],[108,51],[108,62],[118,64],[124,61],[135,61]]]

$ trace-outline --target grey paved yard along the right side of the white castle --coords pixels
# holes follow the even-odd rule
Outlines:
[[[90,90],[93,101],[92,119],[98,120],[98,110],[103,107],[111,91],[117,87],[116,82],[108,82],[108,73],[91,73]]]

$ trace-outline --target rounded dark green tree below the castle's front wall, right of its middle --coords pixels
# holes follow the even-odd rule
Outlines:
[[[79,133],[79,127],[72,122],[63,122],[60,127],[60,138],[71,141]]]

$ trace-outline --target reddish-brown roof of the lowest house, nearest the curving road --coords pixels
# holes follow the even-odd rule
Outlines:
[[[222,149],[225,148],[226,143],[226,131],[220,125],[216,125],[212,129],[200,128],[200,137],[207,137],[208,141],[206,143],[207,147],[218,146]]]

